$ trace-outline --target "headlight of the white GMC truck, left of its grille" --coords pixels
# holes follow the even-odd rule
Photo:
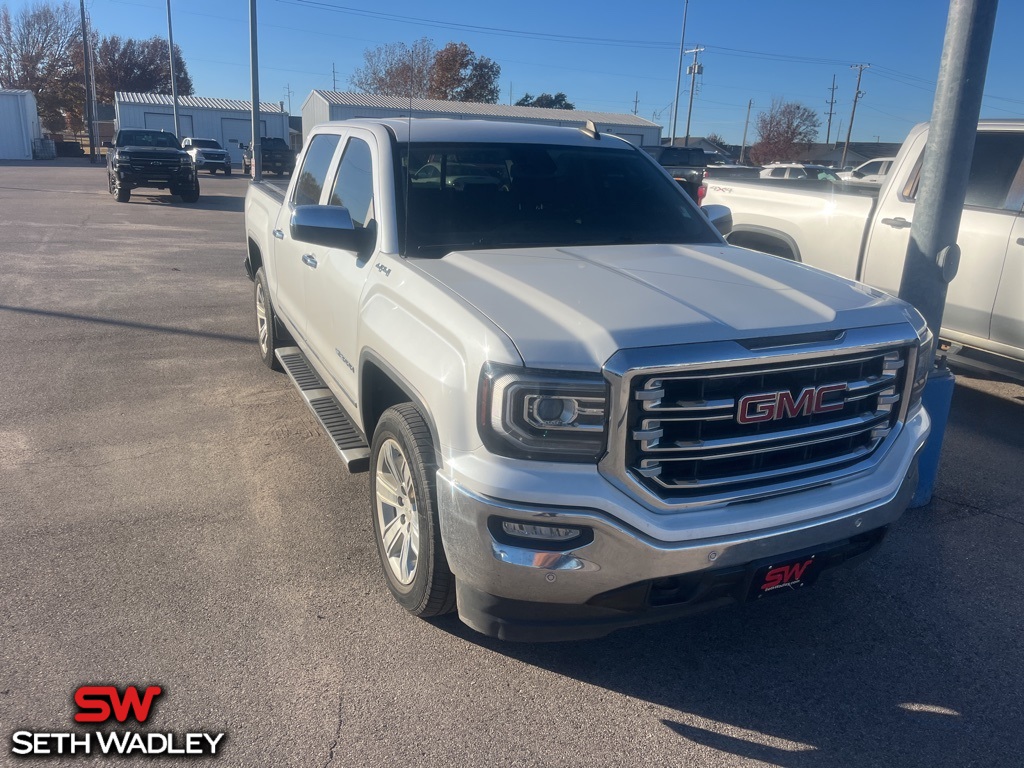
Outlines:
[[[480,439],[515,459],[594,463],[604,454],[608,394],[597,374],[488,362],[480,373]]]

